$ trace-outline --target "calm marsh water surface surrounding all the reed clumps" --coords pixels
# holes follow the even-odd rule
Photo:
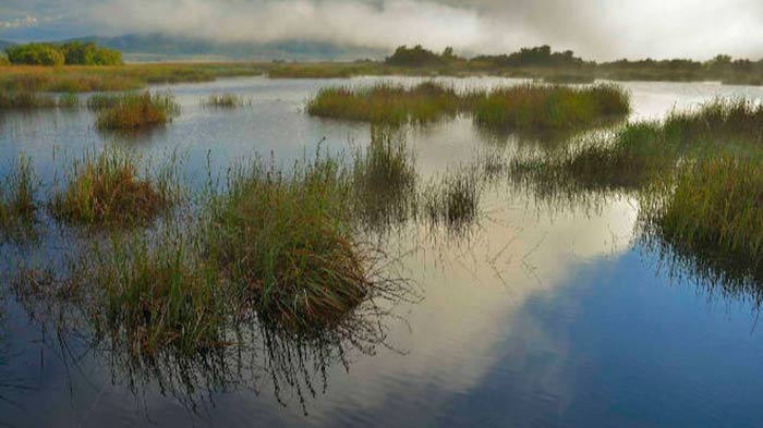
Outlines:
[[[132,136],[99,133],[86,109],[7,111],[0,159],[7,168],[24,152],[51,183],[62,160],[104,144],[154,160],[174,151],[192,186],[201,185],[209,171],[223,173],[246,157],[289,163],[313,156],[317,145],[332,152],[364,146],[368,125],[311,118],[303,107],[323,86],[377,80],[153,87],[171,90],[182,113]],[[763,96],[712,83],[623,86],[632,121],[714,97]],[[243,95],[252,105],[202,106],[213,93]],[[508,158],[559,144],[486,134],[468,117],[410,129],[405,138],[424,179],[486,152]],[[762,426],[754,293],[729,292],[642,245],[638,210],[627,195],[538,203],[508,180],[491,180],[479,218],[464,230],[409,222],[383,233],[390,269],[411,292],[370,313],[362,331],[300,342],[253,327],[245,350],[201,362],[132,366],[3,284],[0,426]],[[44,235],[46,252],[70,250],[58,244],[61,233]],[[0,250],[39,257],[12,243]]]

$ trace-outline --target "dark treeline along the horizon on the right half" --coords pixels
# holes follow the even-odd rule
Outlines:
[[[763,81],[763,60],[750,61],[732,59],[718,54],[708,61],[688,59],[671,60],[618,60],[597,63],[574,56],[571,50],[555,52],[549,46],[523,48],[508,54],[481,54],[470,59],[453,53],[446,48],[436,53],[421,46],[409,48],[401,46],[385,60],[388,65],[400,68],[437,68],[443,71],[489,72],[507,70],[514,74],[528,71],[528,76],[535,74],[547,76],[553,73],[567,74],[570,77],[590,76],[613,80],[669,80],[698,81],[703,78],[724,82],[754,83]],[[517,73],[517,72],[520,73]]]

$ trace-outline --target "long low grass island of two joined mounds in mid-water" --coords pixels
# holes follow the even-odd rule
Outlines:
[[[521,85],[459,94],[432,82],[411,88],[382,83],[368,88],[324,88],[306,110],[320,118],[386,124],[427,123],[471,112],[474,122],[485,127],[543,131],[592,126],[627,115],[630,97],[611,85]]]

